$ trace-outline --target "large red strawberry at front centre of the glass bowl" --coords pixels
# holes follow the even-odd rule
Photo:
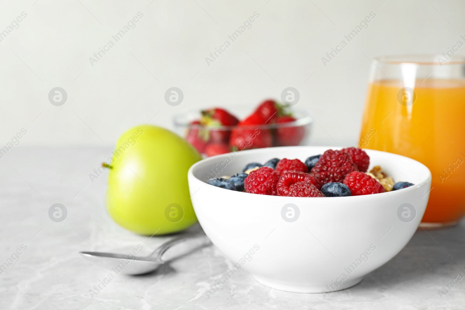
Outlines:
[[[229,146],[233,151],[272,146],[271,132],[259,128],[264,123],[265,119],[256,113],[240,121],[231,132]]]

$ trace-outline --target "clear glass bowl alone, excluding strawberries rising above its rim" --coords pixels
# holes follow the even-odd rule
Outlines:
[[[246,108],[227,110],[240,120],[253,112]],[[290,112],[295,120],[264,125],[215,126],[199,124],[202,117],[200,110],[187,111],[174,117],[174,127],[205,157],[255,148],[304,145],[312,118],[303,110],[288,109],[286,112]],[[212,149],[215,151],[209,151]]]

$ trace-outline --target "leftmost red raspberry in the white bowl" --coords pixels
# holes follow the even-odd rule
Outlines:
[[[246,193],[276,196],[279,175],[274,169],[261,167],[249,173],[244,180]]]

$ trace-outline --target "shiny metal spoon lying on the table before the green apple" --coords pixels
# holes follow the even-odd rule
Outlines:
[[[205,236],[205,235],[201,235]],[[182,235],[161,244],[147,257],[130,257],[124,254],[102,253],[102,252],[79,252],[82,256],[100,264],[114,272],[126,275],[141,275],[156,270],[165,261],[162,255],[175,244],[182,243],[188,239],[200,237],[199,235]],[[202,240],[203,242],[203,240]]]

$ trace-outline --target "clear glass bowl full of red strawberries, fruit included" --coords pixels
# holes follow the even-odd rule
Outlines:
[[[305,143],[312,118],[305,111],[291,110],[265,100],[255,110],[213,107],[180,113],[174,118],[176,132],[205,157],[227,152]]]

